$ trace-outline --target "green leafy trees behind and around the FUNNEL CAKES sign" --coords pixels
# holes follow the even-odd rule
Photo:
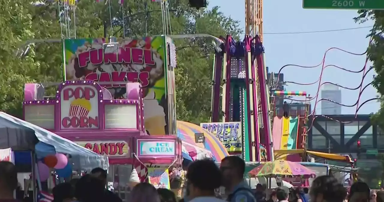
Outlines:
[[[70,11],[71,37],[141,37],[164,33],[161,7],[150,0],[124,1],[123,9],[117,0],[111,0],[111,18],[108,4],[94,0],[81,0],[76,13]],[[188,0],[170,1],[172,33],[208,33],[216,37],[240,35],[237,21],[212,10],[189,8]],[[28,82],[59,82],[62,80],[63,62],[61,43],[30,43],[29,52],[19,58],[20,47],[26,40],[61,38],[68,30],[60,27],[65,22],[59,17],[56,2],[36,5],[30,0],[0,1],[0,110],[22,117],[23,84]],[[111,28],[112,27],[112,28]],[[178,67],[176,75],[177,119],[199,124],[209,121],[212,65],[214,49],[212,39],[191,38],[175,40]],[[26,47],[24,47],[25,49]]]

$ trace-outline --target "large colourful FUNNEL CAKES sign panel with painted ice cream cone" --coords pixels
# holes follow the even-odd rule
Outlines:
[[[65,79],[95,81],[108,89],[113,99],[127,98],[122,83],[141,83],[147,133],[169,134],[165,38],[118,38],[116,50],[111,52],[103,50],[104,43],[108,38],[66,39]]]

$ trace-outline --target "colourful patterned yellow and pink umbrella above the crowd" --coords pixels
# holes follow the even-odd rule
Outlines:
[[[291,162],[286,160],[275,160],[265,162],[258,167],[248,172],[250,177],[275,177],[275,176],[304,176],[304,177],[316,177],[315,173],[299,164],[298,162]]]

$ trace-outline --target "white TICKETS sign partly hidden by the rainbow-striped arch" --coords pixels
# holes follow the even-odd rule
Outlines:
[[[242,151],[242,131],[240,122],[201,123],[200,127],[215,135],[228,152]]]

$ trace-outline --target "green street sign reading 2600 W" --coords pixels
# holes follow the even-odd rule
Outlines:
[[[303,0],[303,8],[384,10],[383,0]]]

